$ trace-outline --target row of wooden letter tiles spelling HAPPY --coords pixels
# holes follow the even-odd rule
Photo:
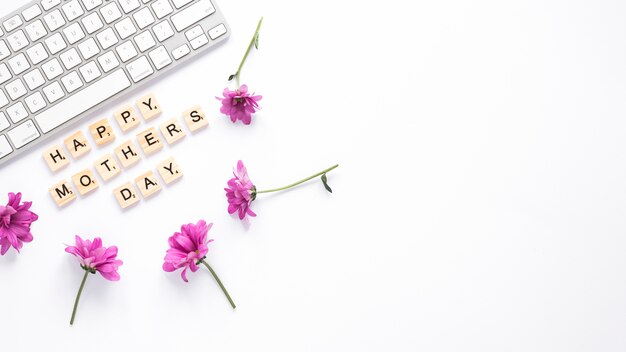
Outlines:
[[[139,107],[139,111],[146,121],[152,120],[163,112],[161,110],[161,104],[158,103],[152,93],[137,99],[136,105]],[[117,109],[113,113],[113,116],[123,132],[137,127],[140,123],[138,114],[130,105],[125,105]],[[89,133],[91,133],[91,136],[98,146],[108,144],[115,140],[115,132],[113,132],[113,128],[106,118],[89,125]],[[65,147],[70,151],[74,159],[80,158],[91,150],[87,138],[85,138],[85,135],[81,131],[67,137],[63,141],[63,144],[65,144]],[[46,150],[43,153],[43,157],[52,172],[56,172],[69,164],[69,158],[61,145],[55,145]]]

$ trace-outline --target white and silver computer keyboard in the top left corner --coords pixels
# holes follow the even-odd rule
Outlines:
[[[37,0],[0,19],[0,167],[229,35],[213,0]]]

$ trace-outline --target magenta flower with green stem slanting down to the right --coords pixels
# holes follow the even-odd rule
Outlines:
[[[163,263],[163,270],[167,272],[176,271],[180,268],[184,268],[180,273],[180,276],[185,282],[187,280],[187,269],[191,269],[192,272],[198,271],[198,264],[202,263],[211,272],[211,275],[215,278],[215,281],[220,285],[222,291],[228,298],[230,305],[235,309],[235,303],[230,298],[228,291],[222,284],[222,281],[217,276],[213,268],[206,262],[206,255],[209,252],[209,243],[213,242],[207,238],[209,230],[213,227],[213,224],[208,224],[204,220],[198,221],[194,224],[187,224],[180,227],[180,232],[174,232],[174,234],[168,239],[170,248],[165,252],[165,262]]]

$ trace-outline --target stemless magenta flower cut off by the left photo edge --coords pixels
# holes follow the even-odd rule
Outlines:
[[[11,246],[19,253],[23,242],[31,242],[30,225],[39,217],[30,211],[31,202],[22,201],[21,193],[9,193],[9,203],[0,205],[0,255]]]

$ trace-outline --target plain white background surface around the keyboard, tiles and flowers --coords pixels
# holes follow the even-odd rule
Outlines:
[[[0,258],[1,350],[626,349],[624,1],[219,5],[229,41],[151,89],[156,123],[201,104],[209,129],[62,210],[49,186],[113,145],[55,175],[52,142],[0,170],[1,196],[40,215]],[[261,15],[242,80],[263,109],[231,124],[214,96]],[[184,178],[121,211],[111,190],[169,155]],[[341,166],[332,195],[259,196],[246,225],[223,191],[239,159],[259,188]],[[201,218],[236,311],[206,270],[161,270],[168,236]],[[70,327],[75,234],[124,265],[120,282],[89,277]]]

